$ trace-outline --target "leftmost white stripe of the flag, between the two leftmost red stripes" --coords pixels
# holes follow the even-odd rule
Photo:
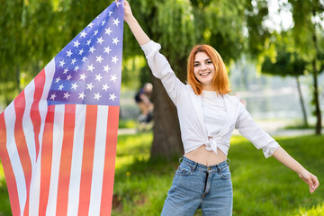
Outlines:
[[[25,176],[23,174],[22,161],[18,155],[18,149],[16,147],[16,142],[14,139],[14,122],[15,122],[15,111],[14,111],[14,102],[4,110],[4,121],[6,126],[6,148],[8,155],[10,157],[10,163],[13,166],[14,178],[17,184],[17,192],[19,205],[21,210],[21,215],[23,215],[23,210],[26,204],[27,197],[27,188]]]

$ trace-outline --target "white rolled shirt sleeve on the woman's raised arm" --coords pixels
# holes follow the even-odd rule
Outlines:
[[[175,76],[165,56],[163,56],[159,49],[161,45],[150,40],[148,43],[141,46],[145,57],[148,59],[148,67],[151,69],[153,76],[161,80],[173,103],[177,103],[178,96],[184,84]]]

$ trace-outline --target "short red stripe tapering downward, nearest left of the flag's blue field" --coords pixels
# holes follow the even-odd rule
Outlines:
[[[40,151],[40,99],[43,93],[44,85],[45,85],[45,70],[42,69],[38,76],[34,78],[35,84],[35,93],[33,96],[33,103],[31,104],[31,122],[34,130],[34,139],[35,139],[35,148],[36,148],[36,160],[39,156]]]

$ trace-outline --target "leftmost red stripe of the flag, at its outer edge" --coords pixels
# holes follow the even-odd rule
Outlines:
[[[10,157],[6,149],[6,127],[4,121],[4,112],[0,114],[0,157],[2,165],[4,166],[4,175],[8,187],[10,204],[13,216],[20,215],[19,197],[17,191],[17,183],[14,177],[13,166],[10,162]]]

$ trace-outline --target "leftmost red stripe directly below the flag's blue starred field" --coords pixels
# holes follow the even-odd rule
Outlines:
[[[41,146],[40,157],[40,209],[39,215],[46,214],[49,202],[49,182],[53,151],[53,122],[55,106],[50,105],[45,120],[45,127]]]

